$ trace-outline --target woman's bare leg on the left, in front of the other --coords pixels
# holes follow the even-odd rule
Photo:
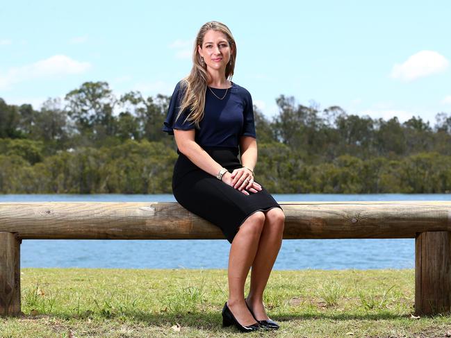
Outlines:
[[[259,239],[265,223],[265,214],[258,211],[247,217],[233,238],[229,254],[229,309],[243,326],[255,323],[247,309],[244,296],[245,282],[254,262]]]

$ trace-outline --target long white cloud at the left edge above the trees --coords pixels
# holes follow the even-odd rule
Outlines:
[[[89,62],[79,62],[68,56],[56,55],[34,62],[31,65],[12,67],[5,74],[0,74],[0,88],[10,87],[14,83],[30,81],[33,78],[51,78],[72,74],[81,74],[91,65]]]

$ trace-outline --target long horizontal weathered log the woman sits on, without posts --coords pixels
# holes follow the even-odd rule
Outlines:
[[[451,231],[451,202],[281,202],[284,239],[415,238]],[[0,203],[0,231],[21,239],[224,239],[179,203]]]

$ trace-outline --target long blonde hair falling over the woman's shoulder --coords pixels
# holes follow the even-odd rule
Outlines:
[[[207,31],[219,31],[224,33],[227,37],[227,41],[229,42],[229,46],[232,47],[230,61],[227,63],[225,69],[225,76],[229,81],[233,76],[233,70],[235,69],[235,60],[236,60],[236,43],[233,39],[233,35],[229,28],[222,24],[221,22],[211,21],[204,24],[199,33],[197,33],[197,37],[194,43],[194,50],[192,52],[192,69],[191,72],[186,78],[183,78],[181,81],[181,105],[179,114],[177,115],[178,119],[183,112],[187,108],[190,110],[188,117],[186,117],[187,121],[194,122],[195,126],[199,128],[199,122],[204,118],[204,108],[205,108],[205,92],[206,87],[209,80],[209,75],[206,71],[206,64],[202,65],[202,59],[199,55],[199,51],[197,46],[202,47],[202,42],[204,41],[204,36]]]

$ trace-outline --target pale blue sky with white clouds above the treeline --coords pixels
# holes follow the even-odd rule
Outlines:
[[[275,99],[385,120],[451,115],[451,1],[1,1],[0,97],[39,109],[85,81],[172,94],[199,28],[236,40],[232,81]]]

